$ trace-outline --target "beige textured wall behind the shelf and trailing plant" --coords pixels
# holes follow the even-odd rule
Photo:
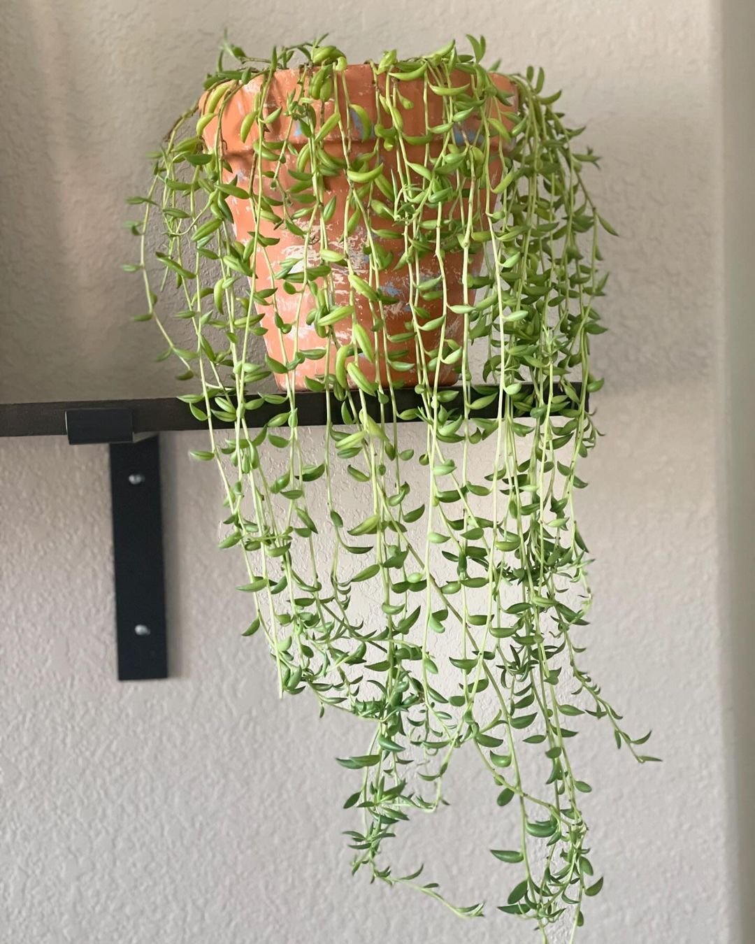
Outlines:
[[[607,436],[586,466],[596,553],[590,667],[663,766],[608,731],[578,740],[606,889],[586,944],[733,944],[714,402],[724,333],[715,0],[396,0],[240,8],[199,0],[10,0],[0,7],[0,384],[4,399],[149,396],[171,372],[126,316],[114,261],[140,156],[196,93],[224,24],[248,49],[330,29],[353,59],[487,34],[504,68],[542,63],[604,156],[612,331],[597,346]],[[241,10],[241,12],[240,12]],[[470,944],[530,939],[491,917],[348,875],[339,831],[348,719],[278,703],[246,599],[215,549],[220,493],[163,437],[176,677],[113,681],[107,455],[0,445],[0,939],[4,944]],[[229,564],[229,562],[231,562]],[[228,569],[230,567],[230,570]],[[221,615],[222,613],[222,615]],[[495,901],[484,848],[507,827],[474,765],[411,849]],[[417,852],[417,854],[419,854]],[[505,867],[501,867],[505,868]]]

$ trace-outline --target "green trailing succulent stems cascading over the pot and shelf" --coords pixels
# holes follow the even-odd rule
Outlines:
[[[579,459],[596,443],[588,395],[602,385],[590,372],[607,278],[598,235],[612,228],[583,182],[596,156],[575,148],[582,129],[564,124],[542,70],[509,76],[514,93],[502,92],[495,66],[481,65],[484,41],[469,39],[472,55],[450,43],[370,63],[379,120],[361,139],[374,146],[358,153],[348,124],[367,119],[339,105],[338,49],[320,40],[252,59],[226,44],[205,96],[153,156],[147,194],[130,201],[144,212],[129,224],[141,258],[126,268],[146,287],[137,320],[157,323],[162,356],[176,355],[180,379],[194,382],[182,399],[210,430],[209,449],[193,455],[216,460],[223,480],[221,547],[243,555],[241,589],[256,607],[244,634],[265,636],[281,692],[309,689],[322,710],[368,722],[363,752],[340,761],[361,776],[345,803],[361,813],[348,833],[354,869],[482,914],[482,904],[450,904],[422,869],[399,874],[384,860],[384,842],[413,811],[444,802],[445,771],[463,748],[489,771],[498,805],[516,810],[501,819],[506,848],[493,851],[511,864],[495,868],[512,869],[501,874],[499,907],[533,919],[546,940],[567,912],[574,936],[584,898],[602,885],[581,811],[590,786],[569,755],[575,716],[606,719],[619,748],[653,759],[638,753],[646,737],[625,733],[584,667],[575,632],[590,605],[574,505],[585,485]],[[294,66],[296,91],[278,108],[304,143],[271,136],[280,111],[264,94],[277,70]],[[260,76],[259,104],[242,124],[251,170],[241,179],[222,120]],[[443,107],[419,137],[402,121],[402,84],[417,80],[426,107],[428,94]],[[469,116],[478,131],[459,134]],[[326,146],[333,131],[343,132],[335,151]],[[409,159],[417,144],[421,162]],[[294,185],[281,184],[283,169]],[[348,194],[333,239],[336,177]],[[248,202],[248,232],[235,231],[233,201]],[[278,269],[277,233],[304,244]],[[366,277],[354,265],[355,233]],[[396,239],[400,257],[384,247]],[[461,290],[458,276],[447,278],[452,253],[461,253]],[[408,301],[392,334],[386,312],[399,269],[409,273]],[[348,303],[336,304],[344,279]],[[282,313],[292,297],[295,321]],[[366,325],[357,314],[365,305]],[[171,339],[169,316],[190,344]],[[302,324],[319,347],[298,347]],[[266,333],[293,351],[288,362],[260,351]],[[316,446],[299,426],[294,389],[307,362],[310,391],[329,395]],[[418,399],[402,409],[398,391],[414,364]],[[443,367],[458,371],[456,388],[441,386]],[[271,374],[283,389],[260,394]],[[249,420],[262,404],[277,413],[256,429]]]

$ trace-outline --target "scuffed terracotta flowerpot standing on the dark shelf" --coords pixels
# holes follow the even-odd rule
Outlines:
[[[338,100],[342,112],[342,126],[346,126],[345,111],[347,106],[344,104],[346,101],[348,101],[351,105],[361,106],[361,108],[366,111],[367,115],[369,116],[372,126],[374,126],[377,122],[379,122],[384,127],[392,126],[390,115],[388,115],[384,110],[380,109],[379,117],[377,115],[378,106],[376,102],[376,79],[370,65],[350,65],[344,70],[343,73],[334,73],[334,76],[336,76],[336,80],[340,83],[340,87],[338,89]],[[499,121],[511,127],[512,123],[508,118],[507,113],[512,111],[513,107],[515,107],[514,88],[506,76],[493,76],[493,78],[499,89],[512,94],[512,104],[504,107],[497,100],[492,99],[490,100],[488,106],[490,108],[490,113],[497,117]],[[266,102],[263,106],[262,114],[271,114],[279,107],[282,107],[283,111],[285,111],[287,98],[289,96],[298,97],[301,95],[301,81],[302,73],[298,69],[278,71],[268,86]],[[304,81],[306,88],[306,83],[309,81],[309,78],[305,77]],[[466,73],[457,71],[451,75],[451,83],[454,86],[466,85],[469,81],[470,76],[468,76]],[[252,180],[253,194],[257,192],[256,189],[259,186],[260,180],[259,169],[255,170],[256,155],[253,151],[254,143],[257,140],[258,126],[254,125],[252,127],[245,143],[241,139],[241,126],[244,117],[250,111],[252,111],[255,106],[256,98],[260,93],[262,83],[262,76],[256,76],[253,78],[237,93],[234,93],[223,112],[222,139],[224,153],[228,164],[232,168],[231,175],[228,175],[226,172],[227,178],[231,179],[233,176],[237,177],[239,186],[246,188],[249,187],[250,174],[254,172],[254,178]],[[377,76],[377,84],[380,92],[385,93],[385,76]],[[398,110],[400,111],[401,118],[403,119],[403,131],[405,135],[419,137],[426,134],[428,126],[437,126],[442,123],[444,100],[440,95],[432,93],[430,90],[428,90],[427,93],[428,107],[426,118],[424,102],[424,96],[426,92],[425,82],[423,79],[410,79],[396,84],[399,87],[401,95],[403,95],[405,99],[411,103],[410,106],[404,106],[398,103]],[[333,114],[334,108],[335,106],[333,101],[328,101],[324,105],[322,109],[322,115],[320,116],[320,120],[316,127],[319,128],[322,123],[327,121],[327,118]],[[278,175],[280,188],[284,190],[290,190],[290,188],[294,187],[298,182],[291,175],[291,171],[295,171],[296,154],[301,149],[301,147],[307,143],[308,138],[303,133],[301,127],[297,126],[297,124],[293,122],[291,118],[287,117],[283,111],[281,111],[278,117],[267,127],[265,140],[288,140],[288,142],[293,145],[293,148],[290,148],[287,151],[285,163],[280,168]],[[353,166],[354,161],[359,155],[369,153],[374,149],[375,131],[374,129],[367,129],[368,133],[365,135],[365,129],[362,127],[361,120],[359,119],[358,113],[355,110],[350,111],[348,125],[350,138],[348,143],[348,159],[349,164]],[[478,128],[479,118],[471,116],[467,118],[460,126],[457,126],[457,137],[461,137],[461,140],[463,140],[462,136],[465,135],[469,138],[469,140],[474,141],[478,135]],[[216,131],[217,119],[213,119],[203,131],[205,143],[209,148],[214,146]],[[340,158],[342,160],[344,159],[344,141],[342,138],[341,127],[336,126],[335,129],[327,133],[324,139],[324,146],[328,154],[331,154],[334,157]],[[432,142],[429,144],[429,152],[433,157],[440,153],[440,149],[440,138],[437,142]],[[424,164],[425,154],[426,149],[424,144],[406,144],[407,160],[417,164]],[[385,176],[390,179],[392,172],[394,172],[396,169],[397,161],[395,149],[389,150],[385,148],[384,143],[381,141],[378,160],[382,161]],[[261,164],[262,171],[272,170],[276,167],[276,162],[272,160],[262,160]],[[498,158],[491,160],[489,170],[491,183],[493,186],[495,186],[501,176],[501,161]],[[420,177],[418,175],[415,175],[413,171],[411,174],[414,177],[414,182],[420,182]],[[366,229],[363,223],[361,223],[352,232],[352,234],[346,238],[345,249],[343,245],[345,218],[344,211],[350,190],[349,182],[345,177],[345,173],[342,173],[336,177],[327,177],[326,187],[329,189],[330,194],[335,195],[336,198],[335,212],[327,223],[328,248],[335,248],[347,252],[355,274],[361,278],[369,279],[369,256],[364,252],[364,246],[366,244]],[[269,179],[263,177],[263,193],[265,196],[277,199],[279,191],[274,191],[270,186]],[[376,195],[379,196],[380,194]],[[252,233],[255,229],[253,202],[253,200],[243,200],[234,196],[231,196],[228,199],[230,210],[233,213],[233,221],[236,228],[237,238],[243,243],[249,240],[250,233]],[[452,211],[450,207],[446,208],[444,206],[443,209],[447,218],[447,214],[450,214]],[[453,212],[458,215],[461,212],[461,208],[457,206]],[[437,206],[428,207],[428,209],[425,211],[427,218],[434,218],[437,216],[437,213]],[[261,219],[259,226],[261,235],[266,237],[275,237],[278,239],[278,243],[276,245],[270,246],[267,249],[267,256],[270,264],[264,260],[261,254],[258,255],[258,259],[255,261],[257,289],[264,290],[273,287],[275,283],[274,273],[280,270],[280,266],[284,262],[290,261],[292,259],[303,259],[305,241],[303,238],[294,235],[294,233],[292,233],[289,229],[283,226],[276,226],[273,221]],[[377,215],[374,215],[370,220],[370,226],[379,229],[389,228],[390,224]],[[308,246],[309,265],[317,265],[321,261],[319,256],[319,226],[313,229],[316,229],[316,233],[310,237],[310,243]],[[383,249],[393,253],[394,260],[399,259],[402,252],[404,251],[404,243],[403,239],[401,238],[379,240],[376,238],[376,242]],[[477,273],[480,269],[481,263],[482,253],[478,252],[476,255],[471,257],[470,271],[472,273]],[[444,259],[444,269],[448,285],[448,306],[460,305],[463,301],[461,287],[462,267],[463,253],[461,252],[461,249],[459,251],[447,251]],[[434,278],[439,274],[440,266],[434,256],[428,255],[421,260],[420,281],[424,281],[428,278]],[[350,285],[345,267],[333,267],[333,285],[335,293],[335,297],[333,298],[333,307],[353,303],[355,305],[356,317],[358,321],[365,329],[370,332],[370,334],[372,334],[373,325],[379,316],[377,314],[376,304],[371,304],[363,295],[357,295],[355,293],[353,294],[353,299],[350,298]],[[411,330],[411,312],[408,304],[410,297],[410,278],[408,267],[406,265],[402,268],[394,267],[381,272],[380,291],[395,298],[393,303],[386,303],[383,305],[383,317],[385,319],[388,334],[400,335],[402,332]],[[423,301],[423,307],[428,311],[429,318],[435,318],[441,315],[444,311],[443,304],[442,298]],[[310,292],[305,292],[305,295],[303,296],[300,294],[289,295],[285,291],[279,291],[277,293],[278,314],[287,324],[296,325],[296,328],[294,328],[288,334],[282,335],[282,338],[280,332],[275,326],[272,306],[265,306],[262,309],[262,325],[265,329],[267,329],[265,333],[265,345],[267,346],[268,354],[272,358],[275,358],[279,362],[291,362],[294,358],[294,349],[296,347],[298,347],[299,350],[308,350],[322,348],[324,346],[323,339],[316,333],[314,327],[307,324],[307,315],[310,313],[312,306],[313,300]],[[336,338],[340,345],[349,344],[351,342],[351,327],[351,316],[348,316],[342,322],[338,322],[333,326]],[[426,349],[431,349],[438,346],[440,336],[439,331],[423,331],[422,335],[422,341]],[[453,312],[446,312],[445,337],[460,342],[462,335],[463,315],[455,314]],[[399,351],[404,352],[401,355],[401,359],[404,362],[410,362],[416,365],[416,350],[413,343],[398,342],[394,344],[389,342],[388,350],[389,352],[393,351],[395,353]],[[385,351],[380,350],[378,352],[378,373],[379,379],[382,383],[385,383],[386,381],[384,356]],[[364,358],[360,358],[360,368],[365,377],[371,380],[376,379],[376,369],[373,363],[368,362]],[[332,363],[330,365],[330,369],[332,370]],[[324,360],[304,361],[295,368],[295,387],[297,389],[305,389],[305,377],[321,377],[324,371]],[[452,366],[442,365],[439,383],[443,386],[452,385],[457,376],[458,369]],[[414,366],[414,368],[410,371],[405,371],[402,373],[392,372],[391,379],[394,384],[396,381],[402,381],[404,385],[413,385],[417,382],[416,366]],[[277,381],[280,386],[286,385],[285,376],[277,375]]]

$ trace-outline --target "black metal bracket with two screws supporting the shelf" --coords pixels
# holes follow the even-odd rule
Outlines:
[[[135,436],[124,407],[67,410],[65,425],[72,445],[109,445],[118,679],[165,679],[159,438]]]

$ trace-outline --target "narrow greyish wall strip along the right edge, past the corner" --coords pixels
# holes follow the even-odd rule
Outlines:
[[[730,803],[730,853],[732,873],[740,891],[739,922],[744,940],[755,928],[755,322],[752,318],[752,246],[755,245],[755,6],[749,0],[724,0],[724,166],[725,175],[725,280],[726,324],[724,384],[719,405],[726,422],[721,424],[722,452],[726,456],[720,478],[726,496],[721,541],[725,548],[724,579],[727,587],[725,618],[730,648],[730,672],[724,683],[732,693],[728,782]]]

